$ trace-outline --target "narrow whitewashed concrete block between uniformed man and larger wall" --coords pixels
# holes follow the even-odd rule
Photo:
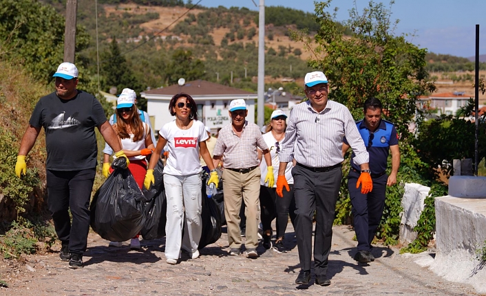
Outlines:
[[[423,202],[429,191],[430,187],[417,183],[405,184],[405,192],[401,199],[401,207],[403,207],[399,233],[401,243],[410,243],[416,238],[416,231],[413,229],[422,214]]]

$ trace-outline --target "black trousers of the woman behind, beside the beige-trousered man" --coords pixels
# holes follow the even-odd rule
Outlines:
[[[271,223],[277,218],[277,239],[283,238],[290,221],[295,226],[295,198],[294,185],[289,184],[290,191],[284,189],[284,197],[277,196],[275,188],[260,186],[260,218],[262,219],[263,231],[272,230]]]

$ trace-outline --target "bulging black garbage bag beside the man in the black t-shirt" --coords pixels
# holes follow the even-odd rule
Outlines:
[[[112,242],[123,242],[136,236],[145,225],[145,196],[131,172],[125,158],[113,161],[114,172],[94,194],[89,205],[91,227]]]

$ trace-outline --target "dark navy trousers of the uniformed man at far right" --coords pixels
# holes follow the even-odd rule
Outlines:
[[[351,198],[352,215],[354,216],[358,251],[371,251],[371,242],[381,222],[385,207],[386,181],[388,174],[372,178],[373,190],[368,194],[361,193],[361,186],[356,187],[359,173],[350,170],[348,190]]]

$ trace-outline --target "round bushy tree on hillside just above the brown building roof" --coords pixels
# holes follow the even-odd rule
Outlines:
[[[204,62],[193,58],[191,50],[176,49],[165,69],[167,84],[176,84],[179,78],[186,81],[204,79]]]

